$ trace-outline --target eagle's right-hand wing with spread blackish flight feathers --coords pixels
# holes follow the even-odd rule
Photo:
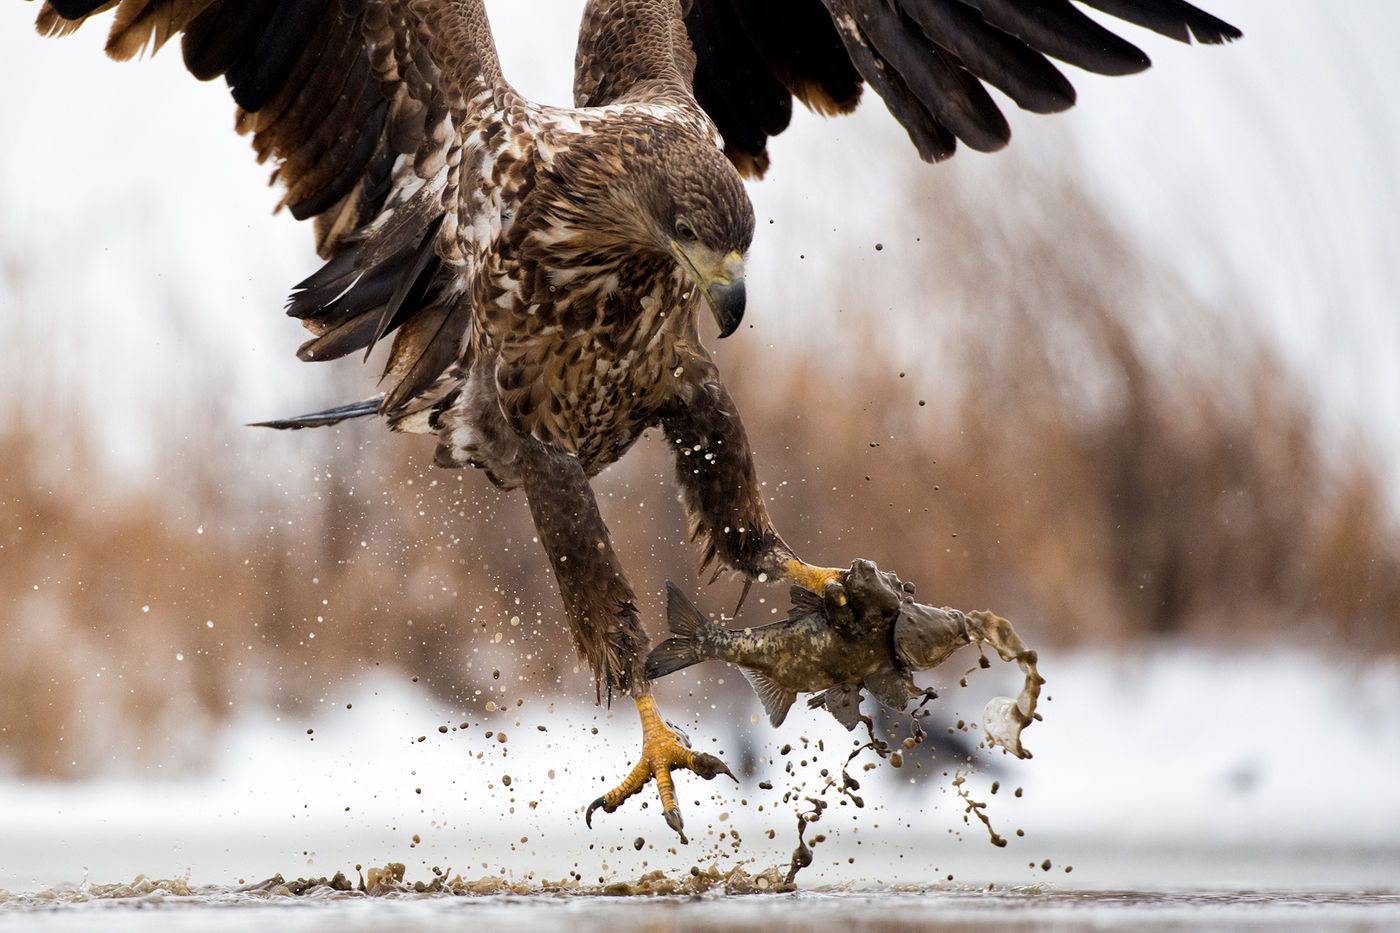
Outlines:
[[[1180,42],[1240,31],[1184,0],[1078,0]],[[1050,62],[1131,74],[1147,55],[1070,0],[692,0],[694,92],[741,171],[762,175],[767,140],[792,98],[823,113],[855,108],[868,83],[928,161],[1011,139],[986,84],[1018,106],[1053,113],[1074,87]]]

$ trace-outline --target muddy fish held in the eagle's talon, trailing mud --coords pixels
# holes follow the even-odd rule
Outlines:
[[[725,629],[706,619],[680,590],[666,584],[666,621],[672,637],[647,657],[647,677],[665,677],[692,664],[720,658],[736,664],[753,685],[773,726],[787,717],[798,693],[816,693],[809,706],[825,706],[847,730],[861,716],[861,689],[903,710],[930,699],[913,672],[938,667],[965,644],[986,644],[1015,661],[1025,685],[1015,699],[997,696],[983,710],[987,742],[1016,758],[1030,758],[1021,733],[1033,720],[1044,679],[1011,623],[991,612],[960,612],[914,602],[914,587],[869,560],[855,560],[820,594],[792,587],[788,618],[760,628]]]

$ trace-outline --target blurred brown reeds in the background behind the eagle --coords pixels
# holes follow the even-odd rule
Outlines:
[[[928,168],[904,150],[875,161],[902,206],[878,245],[853,235],[843,254],[790,255],[799,240],[781,220],[762,226],[760,205],[755,326],[714,352],[790,542],[826,563],[875,559],[921,598],[993,608],[1040,646],[1400,650],[1393,451],[1319,415],[1260,324],[1267,308],[1229,307],[1260,293],[1242,276],[1203,294],[1064,160],[1014,146],[994,185],[986,165]],[[119,167],[102,171],[120,184]],[[14,207],[15,178],[0,209]],[[238,427],[311,392],[230,363],[245,335],[192,324],[209,314],[199,287],[108,286],[146,315],[130,328],[155,319],[150,359],[101,336],[74,346],[84,326],[55,319],[62,286],[43,258],[56,245],[7,226],[0,768],[195,766],[197,734],[238,705],[294,709],[374,665],[448,698],[496,672],[592,698],[518,495],[433,469],[421,438],[377,424]],[[217,276],[230,255],[203,262]],[[273,294],[297,277],[256,255],[244,265]],[[797,280],[825,307],[783,307]],[[274,301],[245,303],[272,326]],[[106,315],[81,312],[94,331]],[[293,333],[276,333],[288,357]],[[126,388],[85,374],[111,353],[155,385],[137,413]],[[370,394],[353,363],[329,371],[294,377],[315,385],[307,408]],[[248,394],[281,401],[249,409]],[[708,609],[738,593],[694,579],[671,471],[652,437],[596,482],[654,635],[662,580]],[[776,587],[755,595],[750,623],[787,605]]]

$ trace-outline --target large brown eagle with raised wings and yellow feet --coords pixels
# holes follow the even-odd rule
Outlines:
[[[1182,42],[1240,35],[1183,0],[1079,3]],[[48,0],[36,25],[109,10],[112,57],[179,36],[196,78],[224,77],[279,207],[312,221],[325,265],[287,307],[312,333],[300,357],[392,340],[381,396],[265,424],[378,415],[434,434],[437,465],[522,489],[599,702],[641,719],[637,765],[585,818],[655,780],[682,841],[671,772],[732,773],[657,709],[591,478],[659,427],[701,569],[834,598],[843,580],[774,528],[700,338],[706,310],[721,338],[745,312],[745,177],[794,99],[844,113],[868,84],[937,161],[1007,144],[988,85],[1049,113],[1074,102],[1051,59],[1149,64],[1070,0],[587,0],[574,105],[549,106],[501,74],[483,0]]]

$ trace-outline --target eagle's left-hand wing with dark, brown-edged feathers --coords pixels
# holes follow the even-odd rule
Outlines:
[[[441,6],[407,0],[50,0],[38,28],[62,35],[112,8],[108,53],[130,59],[182,35],[189,71],[224,77],[238,132],[276,165],[280,206],[315,220],[329,262],[288,303],[316,335],[302,359],[368,352],[402,328],[388,396],[405,405],[431,387],[456,357],[469,317],[435,249],[448,98],[462,98],[463,71],[498,81],[494,50],[462,42],[462,22]],[[424,27],[420,13],[437,20]],[[444,28],[452,35],[433,45]],[[444,59],[458,69],[448,88]]]

